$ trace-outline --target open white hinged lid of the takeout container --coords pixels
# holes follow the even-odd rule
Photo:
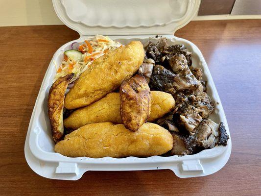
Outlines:
[[[200,0],[52,0],[59,19],[80,35],[173,34]]]

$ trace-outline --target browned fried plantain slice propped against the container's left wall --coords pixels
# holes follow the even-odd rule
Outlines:
[[[48,96],[48,116],[51,124],[52,139],[59,142],[64,134],[63,108],[67,86],[74,73],[58,78],[51,86]]]

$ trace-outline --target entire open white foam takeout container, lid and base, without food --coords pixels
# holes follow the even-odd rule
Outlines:
[[[47,96],[59,64],[72,42],[83,42],[95,34],[127,44],[131,40],[157,42],[155,35],[167,38],[169,44],[184,44],[192,52],[193,67],[203,70],[207,93],[215,103],[210,119],[223,122],[230,136],[224,110],[214,81],[200,50],[190,41],[173,33],[188,24],[196,14],[200,0],[52,0],[60,20],[80,34],[59,48],[53,55],[40,88],[26,136],[24,153],[30,168],[37,174],[64,180],[77,180],[86,171],[172,170],[178,177],[209,175],[220,170],[231,153],[231,139],[226,147],[216,146],[186,156],[152,156],[147,158],[70,158],[55,153],[47,116]],[[63,36],[63,35],[61,35]],[[231,137],[230,137],[231,138]]]

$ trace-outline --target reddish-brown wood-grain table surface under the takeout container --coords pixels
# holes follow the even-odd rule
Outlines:
[[[261,20],[191,22],[176,36],[202,51],[223,103],[233,146],[222,170],[186,179],[170,170],[37,175],[24,158],[31,113],[52,55],[78,34],[63,25],[0,27],[0,195],[261,196]]]

